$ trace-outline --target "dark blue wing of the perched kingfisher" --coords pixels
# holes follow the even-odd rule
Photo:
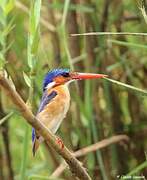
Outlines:
[[[40,102],[40,106],[39,106],[39,109],[38,109],[38,113],[40,113],[44,107],[54,98],[56,97],[57,95],[57,92],[56,91],[52,91],[50,94],[47,94],[47,91],[44,92],[43,96],[42,96],[42,99],[41,99],[41,102]],[[32,142],[34,142],[35,140],[35,137],[36,137],[36,133],[35,133],[35,129],[32,128]]]

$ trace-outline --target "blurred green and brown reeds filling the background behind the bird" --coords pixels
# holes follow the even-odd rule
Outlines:
[[[108,80],[70,85],[71,106],[57,135],[72,151],[113,135],[130,141],[79,158],[94,180],[147,176],[147,37],[71,36],[84,32],[146,32],[146,1],[0,0],[0,69],[36,113],[44,75],[54,68],[108,74]],[[126,84],[140,88],[130,91]],[[62,159],[42,144],[31,152],[31,127],[0,91],[0,180],[75,179]]]

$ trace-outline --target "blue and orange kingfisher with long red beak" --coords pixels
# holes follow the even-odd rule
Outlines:
[[[69,69],[49,71],[43,81],[43,96],[36,117],[55,134],[69,109],[68,84],[75,80],[104,78],[106,76],[104,74],[72,72]],[[43,137],[33,128],[33,155],[43,140]]]

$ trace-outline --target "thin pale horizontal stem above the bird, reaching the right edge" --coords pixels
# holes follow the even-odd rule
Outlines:
[[[87,32],[81,34],[71,34],[71,36],[104,36],[104,35],[131,35],[131,36],[147,36],[147,33],[137,32]]]

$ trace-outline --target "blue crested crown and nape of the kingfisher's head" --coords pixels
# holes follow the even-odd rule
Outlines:
[[[47,85],[51,82],[54,81],[54,78],[58,77],[58,76],[64,76],[67,77],[69,76],[69,69],[53,69],[51,71],[49,71],[43,81],[43,91],[46,89]]]

